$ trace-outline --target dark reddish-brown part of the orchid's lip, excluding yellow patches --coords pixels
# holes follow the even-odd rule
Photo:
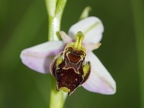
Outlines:
[[[67,51],[70,51],[68,56],[66,56]],[[87,80],[90,69],[83,77],[83,62],[85,56],[83,59],[81,59],[80,56],[85,55],[85,53],[83,51],[75,51],[72,48],[69,48],[67,51],[64,54],[61,52],[59,56],[54,59],[50,68],[52,75],[57,81],[57,90],[61,87],[66,87],[70,89],[68,94],[71,95],[77,87]],[[58,67],[56,67],[56,61],[60,56],[64,56],[64,59]],[[90,62],[88,63],[90,64]]]

